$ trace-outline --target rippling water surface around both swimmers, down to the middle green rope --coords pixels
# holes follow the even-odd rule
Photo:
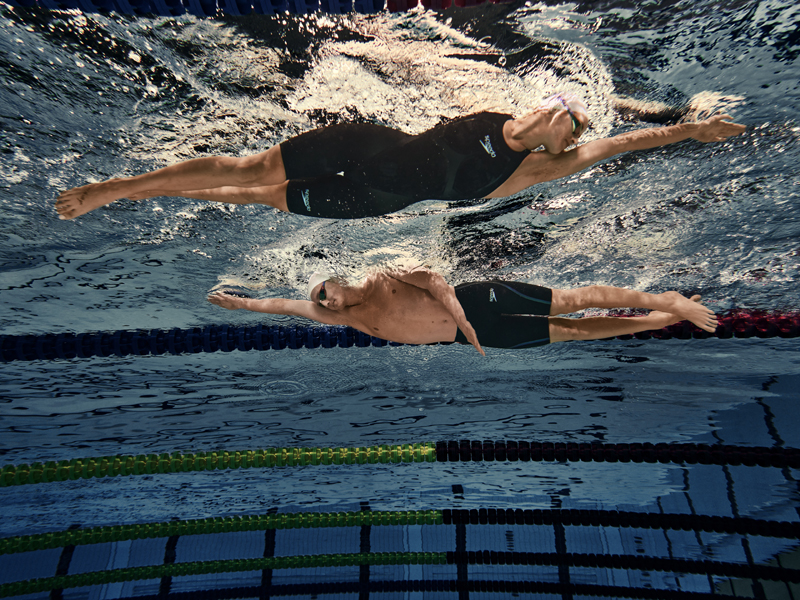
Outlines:
[[[800,11],[776,1],[631,6],[198,20],[0,4],[0,331],[252,324],[254,315],[208,304],[208,291],[300,297],[321,267],[358,279],[410,262],[452,283],[598,283],[697,292],[719,312],[800,308]],[[327,123],[418,132],[484,108],[525,113],[559,89],[587,98],[589,139],[646,126],[614,112],[611,94],[728,110],[748,130],[616,157],[512,198],[431,201],[349,222],[164,198],[70,222],[53,210],[60,190],[87,181],[252,154]],[[800,446],[793,340],[488,355],[448,346],[4,364],[0,453],[18,464],[439,439]],[[178,506],[183,518],[336,509],[354,497],[429,507],[453,482],[480,505],[645,505],[685,485],[665,466],[507,465],[491,476],[476,466],[468,481],[393,469],[356,479],[304,469],[278,485],[214,473],[180,485],[76,482],[66,494],[7,489],[0,527],[168,519]],[[759,509],[797,505],[783,480],[760,493]]]

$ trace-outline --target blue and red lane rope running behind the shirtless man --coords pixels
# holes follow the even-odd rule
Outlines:
[[[800,314],[736,311],[719,320],[714,333],[684,321],[655,331],[619,336],[622,340],[668,340],[800,337]],[[447,342],[442,342],[447,344]],[[54,360],[91,356],[146,356],[198,354],[233,350],[283,350],[291,348],[350,348],[352,346],[402,346],[367,335],[352,327],[301,325],[207,325],[190,329],[93,331],[0,336],[0,362]]]

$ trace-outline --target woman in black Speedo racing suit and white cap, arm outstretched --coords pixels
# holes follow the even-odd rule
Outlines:
[[[576,96],[556,94],[523,118],[483,112],[419,135],[374,124],[332,125],[254,156],[196,158],[73,188],[59,196],[56,210],[61,219],[74,219],[120,198],[182,196],[357,219],[420,200],[510,196],[620,152],[689,138],[722,141],[745,130],[729,119],[639,129],[567,152],[588,129],[589,116]]]

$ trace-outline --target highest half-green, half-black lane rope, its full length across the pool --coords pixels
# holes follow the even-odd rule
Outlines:
[[[358,448],[266,448],[116,455],[5,465],[0,487],[158,473],[421,462],[622,462],[800,468],[800,449],[708,444],[451,440]]]

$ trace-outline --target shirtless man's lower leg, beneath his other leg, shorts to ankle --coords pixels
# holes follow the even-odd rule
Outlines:
[[[700,300],[700,296],[694,296]],[[571,340],[599,340],[630,335],[640,331],[661,329],[679,321],[683,317],[671,313],[654,310],[644,317],[583,317],[567,319],[550,317],[550,342],[567,342]]]

